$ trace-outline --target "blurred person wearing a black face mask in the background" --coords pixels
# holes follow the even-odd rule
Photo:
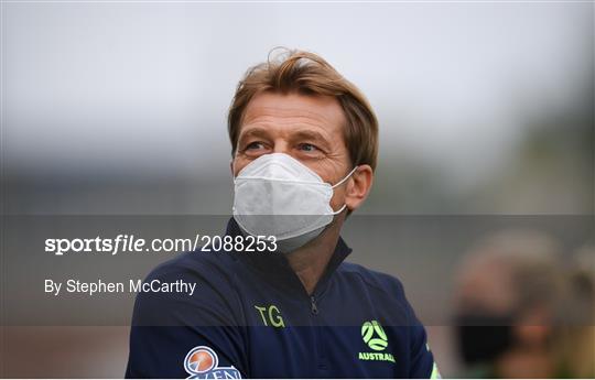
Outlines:
[[[565,377],[555,346],[564,295],[560,249],[549,236],[505,231],[470,250],[455,290],[462,377]]]

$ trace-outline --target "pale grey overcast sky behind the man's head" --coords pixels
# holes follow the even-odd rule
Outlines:
[[[284,45],[364,90],[385,162],[480,172],[593,70],[591,2],[2,7],[9,170],[227,174],[234,88]]]

